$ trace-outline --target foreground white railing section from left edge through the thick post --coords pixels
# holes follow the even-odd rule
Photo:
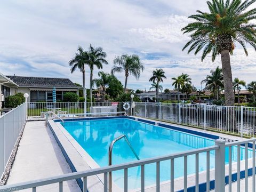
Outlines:
[[[215,145],[211,147],[205,147],[205,148],[200,148],[200,149],[194,149],[194,150],[189,150],[186,152],[182,153],[177,153],[177,154],[172,154],[172,155],[166,155],[166,156],[161,156],[161,157],[155,157],[155,158],[148,158],[148,159],[143,159],[135,162],[130,162],[130,163],[124,163],[124,164],[119,164],[119,165],[111,165],[107,167],[101,167],[99,169],[93,169],[89,171],[82,171],[82,172],[75,172],[75,173],[68,173],[65,175],[60,175],[57,177],[53,178],[47,178],[47,179],[41,179],[41,180],[35,180],[35,181],[29,181],[29,182],[23,182],[23,183],[18,183],[14,185],[9,185],[9,186],[3,186],[0,187],[0,191],[2,190],[21,190],[21,189],[28,189],[32,188],[33,191],[36,191],[36,188],[39,186],[44,186],[44,185],[50,185],[52,183],[59,183],[59,191],[61,192],[63,190],[63,181],[68,181],[68,180],[73,180],[73,179],[83,179],[83,191],[87,191],[87,186],[90,186],[90,183],[88,185],[87,183],[87,177],[90,177],[92,175],[99,175],[103,174],[103,191],[107,192],[108,191],[108,174],[113,172],[113,171],[118,171],[118,170],[123,170],[124,171],[124,191],[128,190],[128,170],[131,167],[138,167],[140,166],[141,168],[141,178],[140,178],[140,190],[145,191],[145,165],[148,164],[153,164],[155,163],[156,165],[156,191],[159,192],[161,191],[161,183],[160,183],[160,164],[163,161],[170,161],[171,164],[171,180],[170,180],[170,191],[174,191],[175,188],[175,183],[174,183],[174,159],[177,158],[184,158],[184,189],[185,191],[187,190],[187,178],[188,178],[188,173],[187,173],[187,166],[188,166],[188,161],[187,157],[190,155],[195,155],[195,167],[196,167],[196,173],[195,173],[195,188],[196,191],[199,189],[199,154],[201,153],[206,153],[206,158],[207,158],[207,169],[206,169],[206,175],[207,177],[205,178],[206,182],[206,188],[207,191],[210,190],[210,151],[215,150],[215,191],[220,192],[224,191],[223,189],[225,188],[225,182],[222,181],[222,179],[219,178],[225,178],[225,173],[221,170],[223,166],[225,166],[225,141],[221,140],[216,140]],[[100,191],[99,191],[100,192]]]

